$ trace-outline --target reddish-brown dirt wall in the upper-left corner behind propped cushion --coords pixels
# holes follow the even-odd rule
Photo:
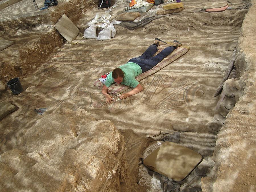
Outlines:
[[[96,0],[62,1],[47,11],[17,15],[14,11],[13,16],[1,10],[0,38],[15,44],[0,52],[0,92],[7,89],[9,79],[27,77],[64,44],[65,40],[53,27],[64,13],[76,23],[82,12],[96,7],[97,3]],[[11,7],[15,10],[21,5],[22,2],[18,2]]]

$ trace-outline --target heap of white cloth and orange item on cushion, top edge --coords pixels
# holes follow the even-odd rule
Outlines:
[[[154,0],[132,0],[125,12],[145,13],[154,6]]]

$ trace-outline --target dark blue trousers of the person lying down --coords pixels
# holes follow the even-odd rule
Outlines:
[[[153,57],[153,55],[157,51],[157,46],[152,44],[146,49],[146,51],[141,56],[134,57],[130,59],[128,62],[137,63],[141,67],[142,73],[144,73],[152,69],[154,66],[156,66],[160,61],[162,61],[165,57],[172,53],[174,49],[176,49],[176,47],[167,47]]]

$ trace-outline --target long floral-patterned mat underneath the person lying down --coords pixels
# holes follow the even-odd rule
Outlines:
[[[162,51],[164,48],[168,47],[170,45],[161,45],[158,46],[158,51],[155,53],[158,54],[160,51]],[[187,51],[189,50],[189,47],[187,46],[181,46],[177,49],[175,49],[170,55],[168,55],[167,57],[165,57],[160,63],[158,63],[155,67],[153,67],[152,69],[141,73],[140,75],[138,75],[135,79],[137,81],[140,81],[142,79],[145,79],[146,77],[156,73],[157,71],[159,71],[160,69],[166,67],[167,65],[169,65],[170,63],[172,63],[174,60],[178,59],[179,57],[181,57],[182,55],[184,55],[185,53],[187,53]],[[103,86],[104,84],[100,81],[100,80],[96,80],[93,83],[94,86]],[[129,89],[130,86],[127,85],[123,85],[120,84],[119,86],[116,86],[116,84],[112,84],[109,88],[108,88],[108,92],[112,95],[112,96],[116,96],[119,95],[120,93],[126,91],[127,89]]]

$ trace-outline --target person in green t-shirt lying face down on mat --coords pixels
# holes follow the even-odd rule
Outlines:
[[[182,44],[177,40],[174,40],[170,47],[166,47],[160,53],[153,55],[157,51],[157,47],[159,45],[167,45],[166,42],[156,38],[155,43],[150,45],[146,51],[139,57],[134,57],[128,61],[128,63],[115,68],[107,77],[107,80],[102,87],[102,94],[106,98],[107,103],[112,103],[114,101],[113,97],[108,94],[108,88],[116,82],[117,84],[124,84],[133,87],[133,90],[123,93],[120,96],[120,99],[125,99],[129,96],[135,95],[143,90],[143,87],[139,82],[135,79],[141,73],[144,73],[154,66],[156,66],[160,61],[162,61],[165,57],[170,55]]]

